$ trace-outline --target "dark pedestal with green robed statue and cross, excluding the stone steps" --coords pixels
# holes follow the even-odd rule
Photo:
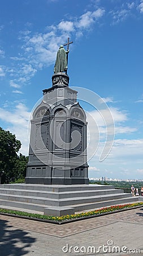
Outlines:
[[[57,52],[52,86],[33,112],[27,165],[27,184],[88,184],[86,115],[77,91],[68,87],[68,53]]]

